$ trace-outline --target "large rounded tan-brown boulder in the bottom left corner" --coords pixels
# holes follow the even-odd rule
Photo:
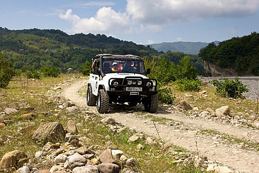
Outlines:
[[[1,168],[11,168],[16,167],[20,159],[27,158],[27,155],[19,150],[14,150],[8,153],[5,153],[1,159],[0,167]]]

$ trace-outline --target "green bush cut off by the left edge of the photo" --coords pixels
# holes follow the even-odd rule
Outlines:
[[[6,88],[14,77],[13,64],[10,61],[3,59],[3,54],[0,53],[0,88]]]

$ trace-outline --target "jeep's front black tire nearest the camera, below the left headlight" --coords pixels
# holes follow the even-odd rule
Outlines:
[[[110,98],[104,89],[100,89],[97,95],[97,110],[100,114],[107,113],[109,111]]]

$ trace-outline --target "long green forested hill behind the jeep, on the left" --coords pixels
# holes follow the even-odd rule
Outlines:
[[[14,63],[16,69],[30,70],[42,66],[58,66],[78,70],[81,65],[99,53],[160,54],[141,44],[122,41],[106,35],[68,35],[60,30],[8,30],[0,27],[0,51]]]

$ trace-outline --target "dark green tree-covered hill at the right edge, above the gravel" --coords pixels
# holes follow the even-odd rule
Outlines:
[[[259,76],[259,33],[241,38],[234,37],[217,46],[210,43],[198,54],[207,64],[222,69],[231,69],[238,75]],[[210,71],[207,74],[210,75]],[[211,74],[212,75],[212,74]]]

